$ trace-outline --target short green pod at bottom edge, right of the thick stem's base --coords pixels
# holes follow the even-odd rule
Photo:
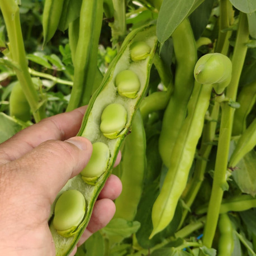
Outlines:
[[[234,250],[233,227],[227,214],[220,215],[219,230],[218,255],[231,256]]]

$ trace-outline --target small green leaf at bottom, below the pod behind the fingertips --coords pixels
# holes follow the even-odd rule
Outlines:
[[[127,221],[125,219],[112,219],[106,227],[102,229],[102,232],[106,235],[118,235],[123,238],[127,238],[130,235],[136,233],[140,227],[138,221]]]

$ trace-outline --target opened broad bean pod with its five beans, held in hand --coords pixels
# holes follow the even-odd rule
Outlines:
[[[140,60],[136,58],[136,61],[133,61],[130,57],[131,45],[142,40],[148,45],[146,48],[144,45],[146,54],[139,53]],[[138,44],[135,45],[138,47]],[[149,72],[156,48],[157,37],[155,36],[154,25],[132,31],[126,37],[120,53],[112,61],[101,86],[93,94],[89,102],[78,136],[84,136],[93,143],[92,160],[88,164],[89,167],[87,169],[85,168],[82,174],[70,179],[59,193],[59,198],[61,198],[61,194],[65,195],[70,190],[77,190],[82,193],[86,205],[85,212],[82,221],[78,225],[75,223],[77,223],[79,216],[74,220],[74,224],[77,227],[73,228],[73,224],[70,224],[70,226],[65,225],[63,228],[64,231],[56,230],[55,227],[60,229],[59,223],[57,226],[54,225],[54,222],[58,221],[53,217],[50,219],[50,230],[54,239],[56,255],[68,255],[72,252],[84,229],[86,229],[92,214],[94,202],[108,176],[111,174],[122,140],[124,140],[126,134],[129,132],[132,118],[146,92],[149,83]],[[134,55],[135,53],[132,55],[133,58]],[[129,70],[132,77],[118,75],[120,73],[122,74],[124,70]],[[117,84],[116,78],[118,78]],[[126,79],[129,79],[130,83],[126,84]],[[132,88],[129,91],[129,84],[133,87],[133,82],[135,83],[135,89]],[[118,88],[120,84],[124,84],[121,89]],[[126,90],[127,93],[125,93]],[[132,94],[132,97],[130,97],[131,94],[129,93]],[[98,150],[99,153],[97,153]],[[100,158],[98,164],[102,173],[93,172],[93,168],[95,167],[93,159],[98,159],[97,155]],[[79,198],[80,193],[78,195]],[[79,198],[77,199],[78,201],[80,200]],[[58,210],[61,208],[58,197],[53,204],[53,208],[55,205],[58,206]],[[67,206],[65,207],[68,208]],[[64,214],[67,214],[65,207]],[[80,207],[79,211],[83,211],[82,207]],[[58,212],[57,218],[59,216],[61,217],[61,214]]]

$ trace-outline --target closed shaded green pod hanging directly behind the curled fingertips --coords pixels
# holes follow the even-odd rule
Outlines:
[[[141,113],[137,111],[132,122],[131,134],[125,139],[122,162],[118,166],[121,169],[122,193],[115,201],[116,218],[134,220],[143,191],[145,155],[146,135]]]

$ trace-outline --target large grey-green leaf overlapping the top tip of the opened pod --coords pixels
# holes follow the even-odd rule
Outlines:
[[[195,0],[164,0],[157,21],[157,37],[162,44],[187,16]]]

